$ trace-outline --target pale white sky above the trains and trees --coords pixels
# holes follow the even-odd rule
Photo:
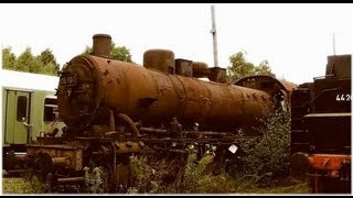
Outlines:
[[[0,19],[1,47],[15,55],[49,47],[64,65],[92,45],[94,34],[106,33],[137,64],[147,50],[167,48],[175,58],[214,66],[208,3],[0,4]],[[336,55],[353,52],[353,4],[216,3],[215,19],[224,68],[231,55],[245,52],[254,64],[267,59],[278,78],[302,84],[324,75],[333,48]]]

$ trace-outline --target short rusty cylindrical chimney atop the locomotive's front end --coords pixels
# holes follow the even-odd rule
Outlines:
[[[111,36],[109,34],[95,34],[93,36],[93,55],[110,57]]]

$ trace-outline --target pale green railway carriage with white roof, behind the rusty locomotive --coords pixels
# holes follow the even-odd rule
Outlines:
[[[57,113],[55,87],[58,77],[1,70],[2,88],[2,148],[24,152],[25,144],[64,123]]]

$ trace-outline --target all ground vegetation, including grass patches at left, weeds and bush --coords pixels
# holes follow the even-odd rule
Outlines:
[[[183,182],[164,183],[168,164],[161,161],[149,165],[146,157],[132,156],[131,169],[135,178],[133,186],[127,194],[309,194],[306,182],[292,180],[289,176],[289,112],[275,113],[263,120],[258,129],[261,136],[239,139],[236,152],[238,161],[228,172],[214,175],[207,168],[213,161],[212,153],[201,161],[191,153],[184,170]],[[239,132],[239,136],[244,133]],[[100,184],[93,175],[92,184]],[[24,182],[22,178],[4,178],[4,194],[38,194],[43,193],[43,184],[35,178]],[[87,193],[99,193],[90,185]]]

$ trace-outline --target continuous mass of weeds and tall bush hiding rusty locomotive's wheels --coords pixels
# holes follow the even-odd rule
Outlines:
[[[261,134],[259,136],[249,139],[244,132],[238,132],[237,138],[242,139],[236,145],[239,151],[232,155],[239,158],[236,166],[228,168],[233,174],[221,172],[212,175],[210,165],[214,156],[206,155],[196,162],[195,155],[191,154],[183,182],[176,189],[175,183],[163,182],[163,175],[170,169],[167,162],[157,162],[152,167],[147,158],[133,157],[131,163],[136,184],[129,193],[229,194],[253,189],[255,185],[266,187],[277,184],[289,175],[290,112],[276,112],[260,122],[263,127],[257,129]]]

